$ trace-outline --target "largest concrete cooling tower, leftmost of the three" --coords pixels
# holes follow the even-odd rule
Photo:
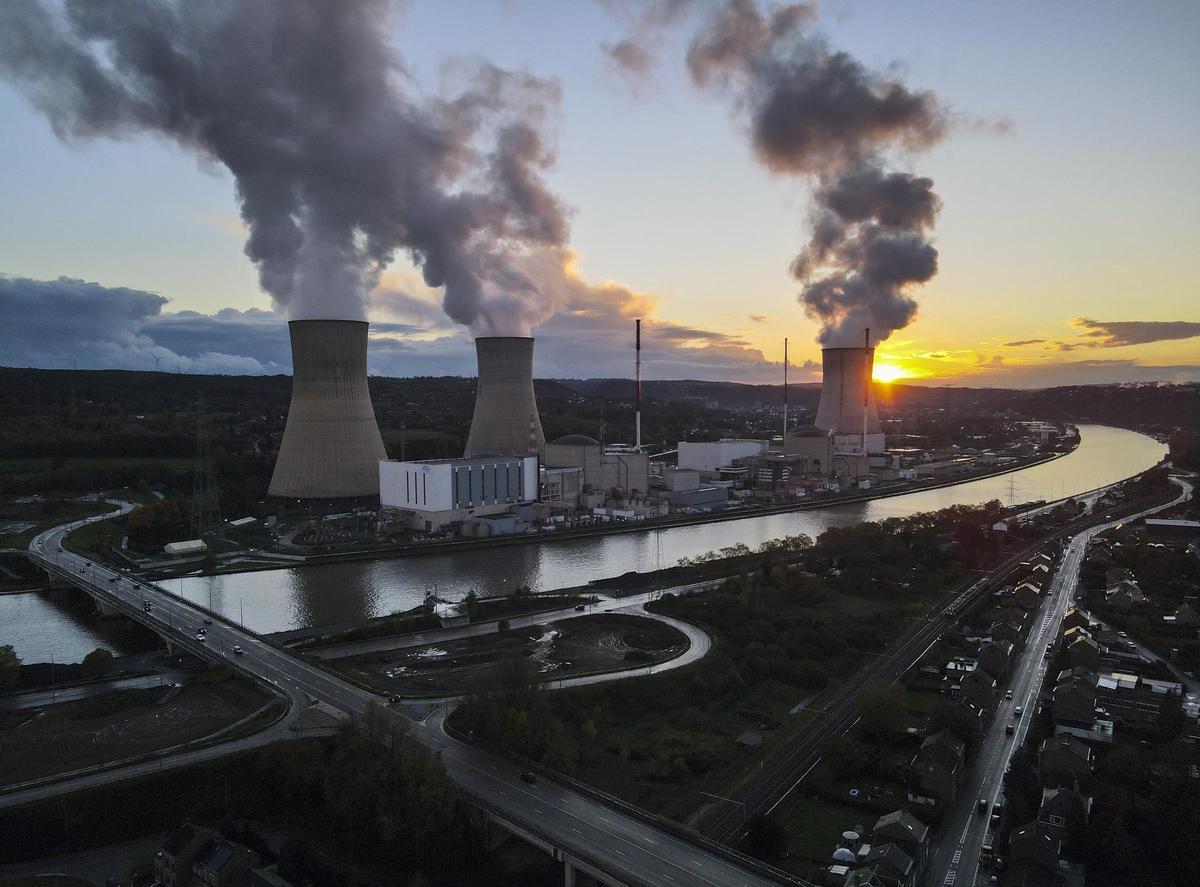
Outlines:
[[[292,406],[268,495],[378,499],[388,454],[367,391],[364,320],[292,320]]]

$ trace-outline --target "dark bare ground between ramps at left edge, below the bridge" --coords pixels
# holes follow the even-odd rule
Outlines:
[[[229,679],[181,689],[118,690],[0,714],[0,784],[11,785],[215,733],[268,702]]]

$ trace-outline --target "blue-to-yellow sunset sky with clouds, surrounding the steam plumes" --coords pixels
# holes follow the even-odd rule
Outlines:
[[[811,182],[766,168],[738,102],[697,88],[696,25],[655,34],[631,80],[604,52],[637,2],[413,0],[391,43],[437,94],[486,59],[557,89],[545,184],[569,238],[544,377],[820,377],[820,323],[788,266]],[[703,14],[703,13],[697,13]],[[827,2],[815,30],[868,70],[931,90],[953,115],[889,164],[942,202],[938,272],[877,376],[1042,386],[1200,382],[1200,5]],[[283,317],[244,253],[234,176],[162,136],[60,139],[0,77],[0,362],[280,372]],[[472,329],[403,256],[370,299],[373,372],[469,374]],[[476,328],[478,329],[478,328]]]

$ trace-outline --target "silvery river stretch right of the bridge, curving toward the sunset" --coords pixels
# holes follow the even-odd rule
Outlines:
[[[1079,448],[1062,459],[886,499],[556,543],[190,577],[163,582],[163,587],[229,618],[244,619],[258,631],[325,625],[407,610],[420,604],[427,589],[456,600],[473,588],[479,594],[504,593],[518,585],[535,591],[563,588],[628,570],[671,567],[682,557],[738,543],[756,547],[768,539],[796,533],[816,538],[834,526],[947,505],[990,499],[1007,503],[1010,483],[1018,503],[1061,498],[1136,474],[1166,454],[1165,444],[1133,431],[1099,425],[1081,425],[1079,431]]]

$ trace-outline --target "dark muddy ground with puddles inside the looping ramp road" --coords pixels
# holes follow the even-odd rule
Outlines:
[[[659,663],[673,659],[686,647],[686,636],[671,625],[642,616],[607,613],[366,653],[340,659],[335,667],[383,693],[436,696],[487,687],[497,666],[512,657],[528,659],[550,681]]]

